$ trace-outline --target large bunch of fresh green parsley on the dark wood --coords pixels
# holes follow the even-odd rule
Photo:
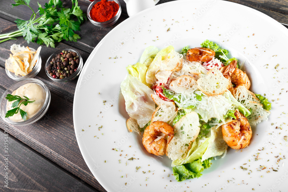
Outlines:
[[[63,39],[76,42],[80,36],[75,31],[80,31],[80,24],[87,20],[86,15],[78,6],[78,0],[72,0],[72,7],[64,8],[62,1],[50,0],[44,7],[38,2],[38,11],[35,12],[29,5],[30,0],[14,0],[12,7],[19,5],[28,6],[33,14],[29,20],[16,19],[18,31],[1,34],[0,43],[23,36],[27,43],[35,41],[39,45],[55,47],[56,42]],[[39,13],[38,18],[37,14]]]

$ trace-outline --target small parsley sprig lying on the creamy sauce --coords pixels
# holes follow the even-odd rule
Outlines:
[[[12,108],[14,108],[14,109],[11,109],[11,110],[9,110],[9,111],[7,111],[7,113],[5,114],[5,117],[7,118],[7,117],[12,117],[13,115],[15,115],[15,114],[17,114],[18,112],[20,113],[20,115],[21,115],[21,117],[22,117],[22,119],[24,120],[24,121],[26,121],[26,118],[27,118],[27,113],[25,112],[25,111],[23,111],[22,109],[20,109],[20,106],[23,104],[23,105],[27,105],[28,103],[33,103],[34,101],[30,101],[29,100],[29,98],[28,97],[26,97],[26,96],[23,96],[23,97],[25,97],[25,98],[21,98],[20,96],[18,96],[18,95],[11,95],[11,94],[7,94],[6,95],[6,99],[8,100],[8,101],[14,101],[13,103],[12,103],[12,105],[11,105],[11,107]],[[16,100],[16,101],[15,101]],[[23,101],[22,101],[23,100]],[[22,101],[21,103],[20,103],[20,101]],[[19,105],[19,103],[20,103],[20,105]]]

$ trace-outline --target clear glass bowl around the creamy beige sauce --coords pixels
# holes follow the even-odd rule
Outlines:
[[[21,121],[21,122],[15,122],[10,120],[10,118],[5,118],[5,114],[7,112],[6,110],[6,105],[7,105],[7,99],[5,99],[7,94],[12,94],[12,92],[16,89],[18,89],[20,86],[25,85],[26,83],[37,83],[38,85],[41,86],[41,88],[43,88],[44,92],[46,93],[46,97],[45,97],[45,101],[44,104],[42,106],[42,108],[40,109],[40,111],[38,111],[38,113],[36,115],[34,115],[33,117],[31,117],[30,119],[27,119],[26,121]],[[14,126],[25,126],[25,125],[29,125],[31,123],[34,123],[36,121],[38,121],[39,119],[41,119],[45,113],[48,111],[49,105],[50,105],[50,100],[51,100],[51,94],[49,89],[47,88],[47,86],[40,81],[39,79],[32,79],[32,78],[28,78],[28,79],[23,79],[20,81],[17,81],[16,83],[14,83],[13,85],[11,85],[5,92],[4,94],[1,96],[0,98],[0,115],[2,117],[2,119]]]

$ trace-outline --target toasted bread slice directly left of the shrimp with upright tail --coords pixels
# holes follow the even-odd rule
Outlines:
[[[230,79],[226,79],[223,74],[213,67],[205,77],[197,80],[198,89],[209,96],[221,95],[232,87]]]

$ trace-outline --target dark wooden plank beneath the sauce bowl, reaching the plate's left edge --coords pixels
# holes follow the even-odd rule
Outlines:
[[[0,77],[2,95],[14,81],[2,67]],[[50,92],[51,103],[46,115],[29,126],[10,126],[10,134],[89,185],[105,191],[90,172],[79,150],[73,126],[73,100]],[[0,122],[5,124],[3,119]]]

